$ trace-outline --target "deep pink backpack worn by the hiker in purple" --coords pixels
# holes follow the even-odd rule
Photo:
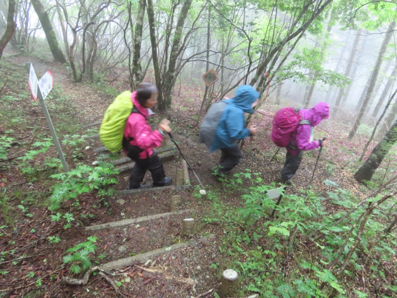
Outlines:
[[[292,133],[298,125],[311,125],[309,120],[302,120],[299,110],[300,108],[283,108],[274,115],[270,137],[278,147],[288,146],[292,140]]]

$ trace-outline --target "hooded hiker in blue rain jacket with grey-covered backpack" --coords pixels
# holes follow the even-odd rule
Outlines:
[[[255,125],[245,127],[244,112],[254,113],[258,103],[259,93],[253,86],[243,85],[233,98],[217,101],[209,108],[200,127],[199,141],[209,152],[221,150],[219,165],[212,169],[215,176],[229,174],[243,158],[237,142],[257,131]]]

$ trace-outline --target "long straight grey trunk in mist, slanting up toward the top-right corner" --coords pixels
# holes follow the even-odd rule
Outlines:
[[[348,136],[349,140],[351,140],[354,137],[354,135],[356,134],[357,129],[358,129],[360,123],[361,123],[362,117],[364,116],[365,109],[367,108],[368,102],[369,102],[369,100],[371,98],[371,95],[372,95],[372,92],[374,90],[375,83],[376,83],[376,80],[378,78],[378,74],[379,74],[379,71],[380,71],[380,68],[381,68],[381,65],[382,65],[382,57],[383,57],[383,55],[386,52],[386,48],[387,48],[390,40],[392,39],[393,31],[394,31],[395,27],[396,27],[396,22],[392,21],[390,23],[390,25],[389,25],[388,31],[386,32],[385,39],[383,40],[381,49],[379,50],[378,58],[377,58],[377,60],[375,62],[375,69],[372,72],[371,81],[370,81],[370,84],[368,86],[368,92],[365,95],[365,99],[364,99],[363,105],[360,108],[360,112],[359,112],[358,117],[357,117],[357,119],[355,121],[355,124],[354,124],[352,130],[349,133],[349,136]]]

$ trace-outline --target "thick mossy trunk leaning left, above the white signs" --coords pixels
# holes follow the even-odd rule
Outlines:
[[[32,0],[32,5],[40,19],[41,26],[46,34],[47,42],[50,46],[51,53],[53,53],[54,60],[60,63],[66,63],[65,54],[62,52],[61,47],[58,44],[57,35],[54,32],[50,18],[48,17],[42,2],[40,0]]]

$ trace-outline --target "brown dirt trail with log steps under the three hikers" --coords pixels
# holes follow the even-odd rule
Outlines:
[[[105,109],[113,100],[113,97],[105,95],[85,83],[73,83],[68,70],[63,65],[43,62],[39,59],[22,55],[14,56],[12,61],[17,65],[32,62],[37,76],[41,76],[47,70],[52,72],[55,88],[62,89],[63,94],[73,102],[76,110],[80,112],[75,121],[81,124],[82,134],[87,131],[87,129],[83,128],[84,124],[101,120]],[[241,198],[244,193],[243,186],[240,190],[230,193],[226,189],[227,186],[215,180],[208,171],[208,168],[216,165],[219,152],[209,154],[205,146],[198,142],[199,126],[195,115],[197,115],[199,110],[201,98],[191,92],[189,89],[183,89],[181,96],[175,96],[173,107],[164,115],[154,116],[153,123],[156,123],[160,117],[167,117],[172,120],[174,138],[178,141],[180,148],[199,175],[202,183],[208,189],[214,189],[220,193],[220,200],[225,206],[242,207],[244,206],[244,201]],[[191,101],[191,98],[194,101]],[[246,170],[251,171],[251,173],[260,173],[259,176],[263,179],[263,184],[265,185],[270,184],[281,169],[284,161],[283,155],[285,154],[280,152],[273,162],[269,164],[269,159],[276,150],[268,138],[269,120],[269,117],[266,116],[254,116],[253,121],[261,127],[261,132],[255,138],[247,140],[243,150],[243,162],[233,170],[233,174],[245,172]],[[93,130],[95,129],[98,129],[98,126],[91,128],[90,133],[94,133]],[[85,158],[80,160],[80,162],[87,165],[92,165],[92,162],[100,157],[105,160],[124,157],[122,154],[104,157],[102,153],[96,153],[94,149],[102,146],[98,139],[87,139],[87,145],[91,148],[84,151]],[[166,139],[163,146],[170,145],[172,145],[171,141]],[[174,181],[176,170],[182,168],[182,157],[178,152],[176,153],[175,158],[164,162],[166,174],[173,177]],[[331,189],[323,183],[323,180],[327,178],[336,181],[339,185],[351,184],[353,181],[351,174],[347,171],[344,173],[344,171],[335,171],[328,168],[329,164],[327,167],[324,160],[325,158],[331,158],[330,153],[325,151],[323,154],[322,158],[324,159],[320,160],[318,164],[313,183],[310,183],[310,178],[317,156],[315,154],[305,155],[295,177],[296,184],[288,188],[288,193],[294,193],[298,188],[307,188],[311,184],[315,185],[319,191],[325,193]],[[118,184],[115,186],[117,190],[123,190],[127,187],[129,175],[129,172],[118,175]],[[192,245],[153,256],[145,267],[143,267],[145,262],[139,262],[136,264],[139,267],[132,265],[121,269],[117,271],[117,276],[112,276],[112,279],[121,284],[119,291],[126,297],[186,298],[198,296],[210,289],[214,289],[215,292],[219,293],[221,270],[227,269],[225,266],[231,266],[225,259],[225,255],[220,251],[220,246],[228,247],[228,243],[223,242],[225,241],[224,229],[217,224],[217,221],[205,222],[205,220],[208,221],[208,212],[215,209],[215,207],[210,198],[198,195],[194,187],[199,183],[191,171],[189,171],[189,175],[193,188],[188,190],[171,189],[134,194],[116,193],[106,202],[105,206],[100,204],[101,198],[99,196],[87,195],[79,197],[81,209],[78,213],[76,212],[75,216],[84,215],[85,218],[79,220],[81,224],[72,226],[72,228],[67,230],[57,227],[56,232],[62,238],[60,243],[52,246],[42,241],[43,243],[37,244],[37,247],[29,251],[29,253],[34,254],[36,250],[40,251],[42,249],[46,253],[46,263],[44,267],[44,257],[41,256],[37,259],[37,262],[36,259],[32,259],[30,260],[32,263],[26,263],[26,267],[23,269],[24,274],[29,272],[29,266],[37,266],[40,270],[50,273],[59,270],[57,275],[55,275],[56,282],[50,280],[49,276],[45,276],[44,283],[47,296],[43,297],[92,297],[92,293],[96,293],[96,297],[117,297],[115,290],[99,275],[90,276],[88,284],[84,286],[61,284],[62,277],[69,274],[62,262],[66,249],[86,241],[88,236],[96,236],[98,237],[96,256],[102,257],[102,259],[97,258],[96,260],[103,264],[119,258],[128,258],[153,249],[196,239],[197,241]],[[151,181],[149,173],[146,174],[145,180]],[[227,197],[224,197],[223,194],[227,194]],[[181,196],[180,204],[177,207],[178,211],[188,209],[190,211],[116,228],[87,230],[83,227],[171,212],[170,199],[173,195]],[[68,208],[73,209],[71,205]],[[44,218],[35,219],[38,223],[48,219],[46,219],[48,217],[46,214],[47,210],[43,210],[41,213]],[[68,212],[69,210],[64,211]],[[197,222],[197,233],[193,237],[183,234],[182,220],[185,217],[193,217]],[[32,221],[27,224],[24,227],[26,233],[32,228],[32,224],[37,223]],[[45,233],[43,232],[43,234]],[[202,236],[207,237],[203,238]],[[241,258],[244,261],[245,256]],[[11,282],[11,280],[7,280],[6,284]],[[245,282],[248,283],[249,281]],[[34,285],[31,287],[34,287]],[[27,293],[29,292],[25,294]],[[19,297],[16,293],[11,294],[15,294],[16,296],[14,297]]]

